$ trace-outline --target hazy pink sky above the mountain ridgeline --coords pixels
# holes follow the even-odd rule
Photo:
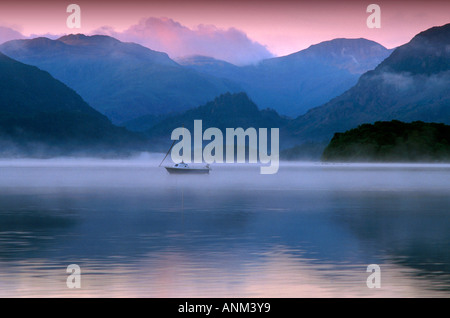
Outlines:
[[[81,29],[66,26],[66,8],[71,3],[81,7]],[[380,29],[366,25],[366,8],[371,3],[381,7]],[[104,33],[121,34],[122,39],[129,36],[143,44],[154,44],[158,40],[146,41],[151,37],[161,40],[165,35],[166,43],[159,43],[161,46],[168,45],[170,36],[174,41],[194,37],[200,39],[195,48],[199,51],[222,39],[229,41],[230,51],[234,45],[248,42],[255,58],[290,54],[337,37],[364,37],[392,48],[420,31],[449,22],[448,0],[17,0],[0,4],[0,26],[26,36],[90,34],[102,28]],[[158,34],[152,31],[155,25],[160,27]]]

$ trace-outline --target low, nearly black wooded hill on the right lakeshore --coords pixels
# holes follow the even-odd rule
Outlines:
[[[397,120],[364,124],[336,133],[324,161],[450,161],[450,126]]]

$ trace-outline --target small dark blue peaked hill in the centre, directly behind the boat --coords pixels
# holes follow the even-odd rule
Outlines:
[[[193,133],[194,120],[201,119],[203,131],[209,127],[219,128],[224,134],[226,128],[280,128],[280,147],[290,141],[284,127],[289,119],[274,110],[259,110],[245,93],[222,94],[202,106],[170,116],[146,131],[147,136],[161,149],[170,145],[171,133],[175,128],[185,127]]]

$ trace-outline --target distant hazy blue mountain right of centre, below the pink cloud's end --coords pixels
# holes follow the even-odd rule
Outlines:
[[[351,88],[390,53],[366,39],[334,39],[244,67],[202,56],[178,62],[238,83],[261,108],[296,117]]]

